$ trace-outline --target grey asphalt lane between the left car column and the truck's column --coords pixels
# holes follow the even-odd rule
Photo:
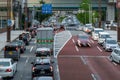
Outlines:
[[[17,64],[17,72],[12,80],[31,80],[31,62],[35,58],[35,43],[34,40],[26,46],[26,51],[21,54],[20,60]]]

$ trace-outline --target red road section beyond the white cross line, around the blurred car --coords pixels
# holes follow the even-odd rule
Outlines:
[[[78,47],[76,45],[77,37],[73,36],[60,51],[59,55],[82,55],[82,56],[108,56],[110,52],[106,52],[97,41],[90,39],[91,47]]]

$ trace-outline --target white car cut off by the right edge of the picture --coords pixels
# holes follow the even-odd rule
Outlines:
[[[115,48],[110,55],[110,60],[120,63],[120,48]]]

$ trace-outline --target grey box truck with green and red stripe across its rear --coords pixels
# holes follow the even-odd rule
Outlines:
[[[37,29],[36,48],[50,48],[53,50],[54,34],[53,28],[42,27]]]

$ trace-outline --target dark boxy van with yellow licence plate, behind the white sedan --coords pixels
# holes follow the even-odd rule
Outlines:
[[[20,59],[20,48],[16,43],[10,43],[4,47],[4,58],[12,58],[14,60]]]

